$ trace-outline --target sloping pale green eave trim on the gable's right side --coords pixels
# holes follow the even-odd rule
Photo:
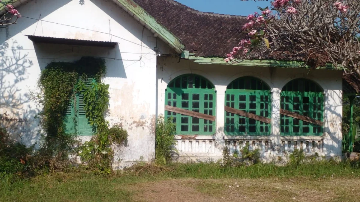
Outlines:
[[[142,20],[147,26],[153,29],[161,38],[169,45],[173,46],[176,52],[181,54],[185,50],[185,46],[180,39],[171,33],[166,27],[158,23],[155,18],[148,14],[141,6],[132,0],[117,0],[122,6],[130,10],[137,18]]]

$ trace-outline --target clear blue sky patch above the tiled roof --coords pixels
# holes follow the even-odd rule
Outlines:
[[[229,15],[248,15],[259,11],[256,7],[265,8],[269,1],[241,1],[241,0],[176,0],[202,12],[212,12]]]

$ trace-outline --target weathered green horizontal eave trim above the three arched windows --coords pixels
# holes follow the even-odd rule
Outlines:
[[[226,63],[224,58],[220,57],[198,57],[194,55],[189,55],[189,60],[193,60],[195,63],[199,64],[222,64],[222,65],[239,65],[239,66],[275,66],[275,67],[284,67],[284,68],[306,68],[310,69],[309,65],[303,66],[301,61],[281,61],[281,60],[242,60],[239,63]],[[316,69],[333,69],[333,70],[343,70],[342,67],[335,67],[332,64],[328,64],[323,67],[318,67]]]

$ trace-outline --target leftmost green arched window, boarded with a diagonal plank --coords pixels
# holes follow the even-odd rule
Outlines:
[[[185,112],[193,111],[210,115],[213,121],[165,111],[165,118],[174,117],[177,134],[213,135],[215,133],[215,87],[206,78],[185,74],[173,79],[165,91],[165,105]],[[177,109],[178,110],[178,109]]]

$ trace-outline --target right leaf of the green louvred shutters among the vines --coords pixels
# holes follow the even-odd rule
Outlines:
[[[86,80],[81,81],[85,83],[85,87],[87,88],[91,88],[92,83],[96,82],[94,78],[87,78]],[[84,106],[84,96],[81,93],[78,93],[76,95],[77,134],[80,136],[92,136],[93,128],[86,118],[86,111],[84,110]]]

